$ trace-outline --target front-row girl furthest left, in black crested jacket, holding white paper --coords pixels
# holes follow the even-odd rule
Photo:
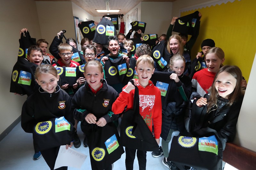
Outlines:
[[[75,121],[71,111],[71,100],[68,94],[57,85],[57,81],[59,80],[57,70],[52,65],[40,65],[36,68],[35,78],[41,87],[29,96],[23,104],[21,112],[22,129],[27,133],[32,133],[34,126],[38,122],[44,122],[51,118],[62,116],[74,125]],[[61,109],[60,104],[62,105]],[[66,145],[66,148],[72,145],[73,142],[71,143],[70,141]],[[54,169],[59,149],[60,146],[41,151],[50,169]],[[60,169],[68,169],[68,167],[61,167]]]

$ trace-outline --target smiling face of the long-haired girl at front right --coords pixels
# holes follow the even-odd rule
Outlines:
[[[234,78],[231,74],[225,71],[221,72],[215,80],[215,88],[219,96],[224,99],[228,99],[228,96],[236,87],[236,81],[236,78]]]

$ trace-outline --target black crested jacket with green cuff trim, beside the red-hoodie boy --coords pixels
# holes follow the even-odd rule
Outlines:
[[[102,88],[96,94],[92,92],[89,84],[85,82],[84,86],[79,88],[72,99],[74,118],[81,121],[81,129],[84,130],[83,128],[88,125],[85,117],[89,113],[95,115],[97,120],[103,117],[107,123],[117,120],[118,116],[112,113],[112,104],[118,96],[119,94],[116,90],[107,85],[104,80]]]

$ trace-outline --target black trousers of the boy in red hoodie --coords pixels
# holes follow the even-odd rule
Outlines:
[[[126,170],[133,170],[133,162],[135,159],[136,149],[125,147],[125,167]],[[146,170],[147,163],[147,151],[137,150],[137,159],[139,162],[139,170]]]

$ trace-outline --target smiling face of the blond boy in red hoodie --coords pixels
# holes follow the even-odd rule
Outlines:
[[[155,68],[148,62],[140,62],[137,67],[135,67],[136,72],[138,73],[138,83],[143,87],[148,85],[149,79],[152,77],[152,74],[155,71]]]

